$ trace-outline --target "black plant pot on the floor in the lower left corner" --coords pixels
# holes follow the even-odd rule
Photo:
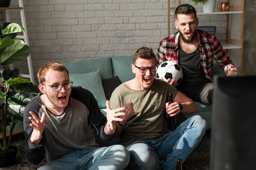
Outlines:
[[[18,148],[16,146],[9,146],[7,153],[0,152],[0,168],[14,165],[17,152]]]

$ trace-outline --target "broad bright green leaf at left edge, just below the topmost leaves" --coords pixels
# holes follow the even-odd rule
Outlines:
[[[14,44],[6,47],[0,54],[1,65],[10,65],[26,60],[30,54],[29,46],[22,40],[15,39]]]

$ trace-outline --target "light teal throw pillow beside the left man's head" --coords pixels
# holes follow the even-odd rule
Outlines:
[[[106,108],[106,96],[101,83],[100,69],[97,72],[69,74],[74,86],[88,89],[98,102],[99,108]]]

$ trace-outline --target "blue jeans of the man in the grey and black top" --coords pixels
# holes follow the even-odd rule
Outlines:
[[[122,170],[130,161],[123,145],[73,150],[38,170]]]

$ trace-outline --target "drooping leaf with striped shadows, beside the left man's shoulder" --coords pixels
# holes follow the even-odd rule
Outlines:
[[[19,92],[7,100],[7,103],[9,104],[7,110],[12,116],[22,118],[26,105],[33,97],[34,96],[29,92]]]

